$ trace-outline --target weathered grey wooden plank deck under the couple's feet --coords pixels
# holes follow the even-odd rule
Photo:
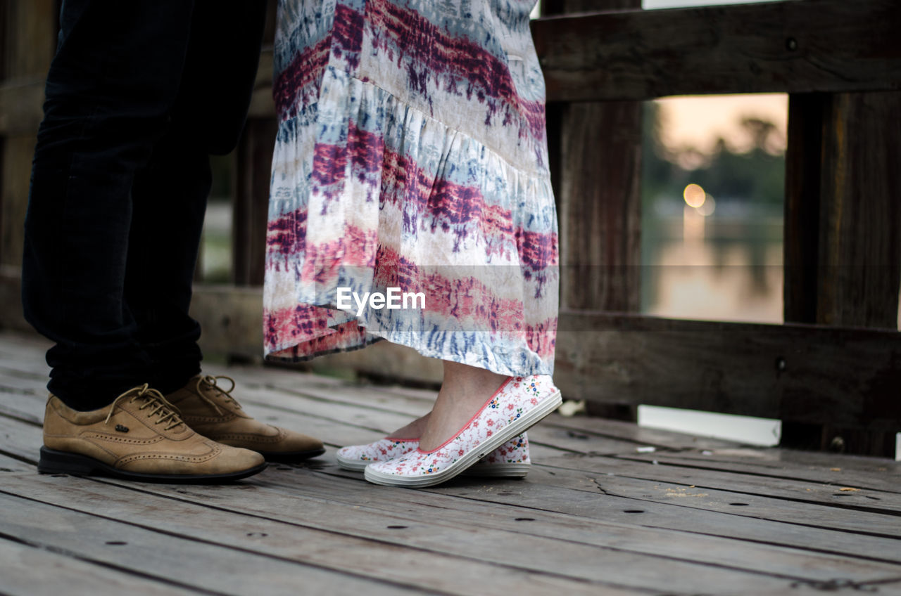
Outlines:
[[[391,489],[334,449],[411,420],[429,392],[209,366],[328,453],[230,486],[42,475],[46,347],[0,334],[5,594],[901,594],[893,461],[554,414],[529,431],[524,480]]]

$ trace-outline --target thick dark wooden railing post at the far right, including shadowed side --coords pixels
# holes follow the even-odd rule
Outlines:
[[[896,329],[901,93],[791,95],[788,131],[786,321]],[[894,455],[894,433],[793,420],[816,407],[780,404],[783,446]]]

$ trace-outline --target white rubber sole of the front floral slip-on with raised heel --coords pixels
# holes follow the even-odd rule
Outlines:
[[[364,475],[370,483],[381,484],[383,486],[423,488],[426,486],[434,486],[435,484],[447,482],[454,476],[462,474],[465,470],[476,464],[479,459],[491,453],[497,447],[500,447],[511,438],[514,438],[517,435],[521,435],[526,430],[531,429],[545,416],[559,408],[561,403],[563,403],[563,399],[560,396],[560,391],[557,391],[553,395],[545,398],[533,410],[506,425],[504,429],[496,432],[493,436],[487,438],[481,445],[478,446],[478,449],[470,449],[466,454],[460,457],[460,459],[458,459],[456,462],[446,467],[445,469],[441,470],[441,472],[438,472],[437,474],[408,478],[406,476],[398,476],[396,474],[383,474],[381,472],[376,472],[371,467],[367,466]]]

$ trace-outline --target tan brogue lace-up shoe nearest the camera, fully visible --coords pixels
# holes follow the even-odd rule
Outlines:
[[[38,471],[108,475],[150,482],[220,482],[266,467],[262,456],[220,445],[190,429],[146,384],[94,411],[76,411],[50,395]]]

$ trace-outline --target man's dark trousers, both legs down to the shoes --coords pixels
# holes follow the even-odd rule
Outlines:
[[[237,144],[262,0],[65,0],[25,221],[51,393],[93,410],[200,370],[188,314],[209,154]]]

